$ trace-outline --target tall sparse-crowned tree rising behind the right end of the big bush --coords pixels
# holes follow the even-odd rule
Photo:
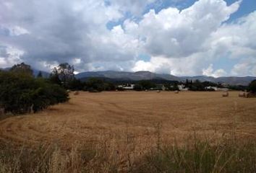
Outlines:
[[[69,63],[61,63],[53,69],[51,76],[58,76],[61,84],[68,89],[70,82],[74,80],[74,66]]]

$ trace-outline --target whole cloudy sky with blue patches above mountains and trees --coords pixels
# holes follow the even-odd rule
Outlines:
[[[0,68],[256,76],[256,0],[0,0]]]

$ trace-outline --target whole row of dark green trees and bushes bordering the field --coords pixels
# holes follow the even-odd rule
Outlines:
[[[161,84],[166,90],[179,90],[178,84],[184,84],[191,91],[210,91],[206,86],[221,87],[210,81],[186,80],[184,82],[170,81]],[[158,86],[157,86],[158,85]],[[256,80],[249,86],[229,86],[231,89],[256,92]],[[136,81],[133,87],[135,91],[148,89],[161,89],[154,81]],[[33,76],[32,68],[20,63],[12,66],[9,71],[0,70],[0,109],[5,113],[24,114],[27,112],[38,112],[46,109],[50,105],[60,102],[67,102],[69,94],[67,90],[83,90],[88,92],[102,92],[124,90],[122,87],[111,81],[101,78],[90,78],[87,81],[80,81],[74,77],[74,66],[69,63],[61,63],[52,69],[48,78],[43,78],[42,72]]]

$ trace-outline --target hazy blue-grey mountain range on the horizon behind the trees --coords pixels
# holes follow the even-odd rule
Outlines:
[[[9,70],[9,68],[4,68],[4,70]],[[48,77],[50,73],[46,71],[41,71],[43,77]],[[33,68],[33,75],[37,76],[39,70]],[[156,74],[150,71],[137,71],[137,72],[127,72],[127,71],[86,71],[80,74],[76,74],[75,77],[81,81],[86,81],[90,77],[98,77],[101,79],[106,79],[108,81],[140,81],[140,80],[154,80],[154,81],[185,81],[186,79],[195,81],[212,81],[214,83],[229,84],[229,85],[243,85],[247,86],[251,81],[255,80],[256,77],[252,76],[227,76],[227,77],[212,77],[212,76],[174,76],[171,74]]]

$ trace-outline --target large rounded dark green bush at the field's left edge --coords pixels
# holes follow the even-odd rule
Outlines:
[[[60,86],[14,72],[0,72],[0,91],[0,107],[13,114],[38,112],[68,100],[66,90]]]

